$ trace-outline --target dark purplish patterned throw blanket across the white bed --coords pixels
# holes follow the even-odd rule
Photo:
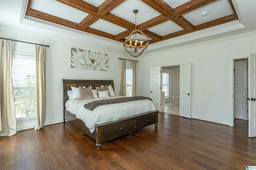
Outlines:
[[[122,102],[130,102],[134,100],[151,100],[151,98],[144,97],[144,96],[134,96],[134,97],[124,97],[124,98],[114,98],[114,99],[104,99],[104,100],[96,100],[93,102],[89,102],[87,104],[84,104],[84,108],[93,110],[98,106],[105,105],[105,104],[115,104],[115,103],[122,103]]]

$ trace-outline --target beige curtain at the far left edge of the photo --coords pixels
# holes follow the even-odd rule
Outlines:
[[[0,39],[0,137],[17,132],[12,87],[13,41]]]

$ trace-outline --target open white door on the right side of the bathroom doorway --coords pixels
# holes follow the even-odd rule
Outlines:
[[[180,116],[191,118],[191,63],[180,64]]]

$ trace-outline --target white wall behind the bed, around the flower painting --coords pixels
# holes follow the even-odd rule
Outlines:
[[[45,125],[63,121],[63,88],[62,79],[113,80],[115,94],[120,91],[120,60],[126,58],[120,53],[92,46],[93,42],[84,38],[56,33],[54,31],[39,31],[40,35],[27,32],[0,31],[1,37],[50,45],[47,47],[46,58],[46,115]],[[79,42],[79,43],[78,43]],[[87,70],[70,67],[71,47],[108,54],[108,70]],[[35,45],[14,41],[15,53],[35,53]],[[17,130],[35,127],[35,120],[17,122]]]

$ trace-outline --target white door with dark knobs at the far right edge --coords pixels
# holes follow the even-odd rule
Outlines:
[[[256,137],[256,54],[248,56],[248,136]]]

